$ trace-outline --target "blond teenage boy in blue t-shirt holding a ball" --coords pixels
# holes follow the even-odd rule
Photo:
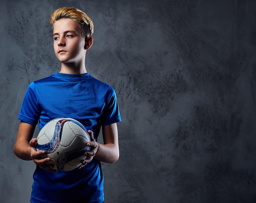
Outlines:
[[[36,170],[31,203],[102,203],[101,161],[114,163],[119,158],[117,122],[121,121],[115,90],[92,76],[85,68],[85,54],[92,46],[93,23],[81,10],[64,7],[52,12],[54,52],[61,62],[58,73],[31,83],[18,119],[20,126],[14,153],[33,160]],[[40,158],[32,138],[38,123],[41,129],[49,120],[70,117],[79,120],[91,136],[90,152],[82,165],[68,172],[53,170]],[[102,127],[103,142],[97,142]]]

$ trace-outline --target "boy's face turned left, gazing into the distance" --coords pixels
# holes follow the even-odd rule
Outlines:
[[[62,63],[79,63],[85,58],[85,38],[79,25],[69,19],[61,18],[53,26],[54,52]]]

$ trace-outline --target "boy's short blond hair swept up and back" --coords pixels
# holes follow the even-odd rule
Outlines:
[[[94,29],[92,20],[83,11],[72,7],[63,7],[52,11],[52,16],[49,19],[52,27],[54,23],[61,18],[70,18],[77,22],[81,28],[83,37],[92,36]]]

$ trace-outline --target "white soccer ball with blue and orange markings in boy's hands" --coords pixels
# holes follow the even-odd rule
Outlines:
[[[55,118],[40,130],[37,151],[45,150],[42,158],[50,157],[55,170],[70,171],[81,165],[84,152],[90,151],[86,143],[90,135],[85,127],[73,118]]]

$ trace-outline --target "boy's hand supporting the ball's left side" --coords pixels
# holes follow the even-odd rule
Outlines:
[[[29,142],[30,156],[34,161],[34,163],[44,170],[47,170],[49,172],[56,172],[56,170],[52,169],[54,165],[47,164],[47,162],[51,161],[49,157],[40,158],[41,155],[45,154],[45,151],[36,151],[36,143],[37,143],[37,138],[32,138],[31,141]]]

